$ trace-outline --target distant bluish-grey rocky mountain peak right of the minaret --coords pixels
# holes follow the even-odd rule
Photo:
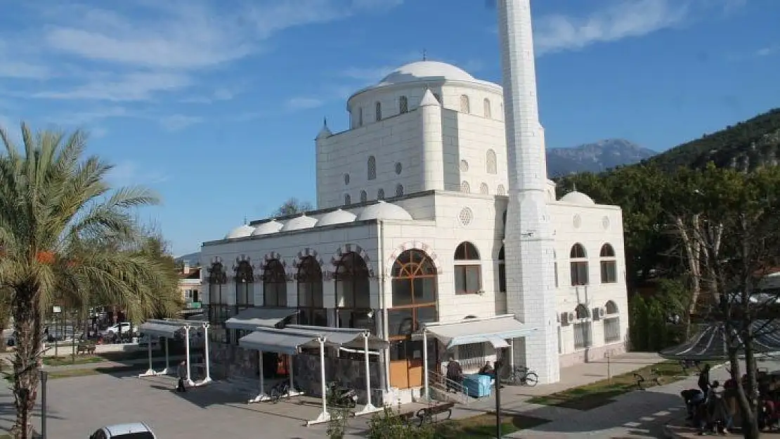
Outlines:
[[[547,173],[549,178],[576,172],[602,172],[615,166],[633,165],[658,154],[623,139],[600,140],[578,147],[549,148]]]

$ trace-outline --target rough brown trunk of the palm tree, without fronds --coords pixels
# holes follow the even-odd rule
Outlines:
[[[16,423],[12,434],[17,439],[32,437],[30,418],[35,408],[38,377],[41,370],[41,310],[34,288],[27,286],[16,290],[13,303],[16,350],[13,357],[14,405]]]

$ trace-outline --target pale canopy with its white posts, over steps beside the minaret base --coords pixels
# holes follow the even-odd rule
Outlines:
[[[509,362],[512,370],[515,368],[515,343],[514,339],[526,337],[536,328],[527,327],[515,318],[513,314],[504,314],[495,317],[469,318],[454,322],[420,323],[423,340],[423,386],[425,398],[430,399],[428,393],[428,336],[438,339],[445,349],[452,349],[459,345],[472,343],[490,343],[495,349],[509,348]],[[419,335],[418,335],[419,336]],[[509,340],[509,342],[506,342]]]

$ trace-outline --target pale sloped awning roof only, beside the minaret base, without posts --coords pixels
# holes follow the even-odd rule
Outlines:
[[[536,328],[527,327],[512,314],[422,325],[424,331],[438,338],[446,349],[472,343],[490,343],[495,348],[505,348],[509,346],[507,339],[525,337],[536,331]]]

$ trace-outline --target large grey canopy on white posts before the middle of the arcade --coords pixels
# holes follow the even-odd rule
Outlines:
[[[384,345],[385,342],[378,338],[372,338],[371,333],[366,329],[352,329],[339,327],[319,327],[307,325],[288,325],[284,329],[275,327],[255,327],[254,332],[239,339],[239,346],[245,349],[257,350],[260,357],[260,393],[250,402],[260,402],[268,399],[265,395],[264,377],[263,377],[263,352],[277,352],[287,354],[290,358],[290,391],[293,391],[293,365],[292,356],[300,352],[301,348],[319,348],[320,350],[320,381],[322,394],[322,412],[317,419],[307,421],[307,426],[315,423],[325,423],[331,419],[328,413],[327,389],[325,386],[325,345],[341,348],[342,345],[349,345],[356,339],[363,339],[363,353],[366,366],[366,405],[356,416],[366,415],[368,413],[378,412],[380,409],[371,404],[371,371],[369,370],[369,345]],[[292,394],[291,394],[292,395]],[[300,395],[300,394],[296,394]]]

